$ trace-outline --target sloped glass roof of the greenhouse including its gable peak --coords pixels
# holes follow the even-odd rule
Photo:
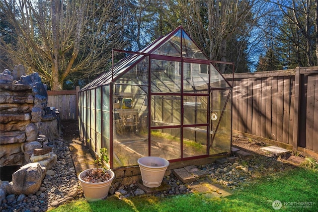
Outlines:
[[[116,78],[129,71],[139,61],[149,55],[161,55],[209,61],[208,57],[183,30],[182,26],[179,26],[169,34],[151,42],[148,46],[138,52],[127,51],[127,53],[131,53],[131,55],[120,60],[113,66],[113,69],[111,68],[110,70],[99,75],[96,79],[85,85],[82,90],[109,84]]]

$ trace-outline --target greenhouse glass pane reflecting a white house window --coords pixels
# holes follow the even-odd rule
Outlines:
[[[183,91],[193,93],[205,90],[208,93],[209,65],[184,63],[183,65]]]

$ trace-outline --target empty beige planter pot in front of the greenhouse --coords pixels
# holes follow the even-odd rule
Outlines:
[[[161,157],[142,157],[138,159],[141,178],[144,186],[156,188],[161,185],[164,172],[169,166],[169,161]]]

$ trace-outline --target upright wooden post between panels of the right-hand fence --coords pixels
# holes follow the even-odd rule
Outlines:
[[[295,69],[295,105],[294,105],[294,130],[293,130],[293,151],[297,151],[299,138],[299,109],[300,109],[300,93],[301,93],[301,77],[300,67]]]

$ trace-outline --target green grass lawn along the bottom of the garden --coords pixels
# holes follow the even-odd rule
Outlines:
[[[273,201],[281,202],[274,210]],[[306,206],[304,206],[306,205]],[[280,205],[276,205],[280,206]],[[205,199],[187,194],[157,198],[151,195],[87,203],[85,199],[62,205],[51,212],[317,212],[318,171],[297,167],[268,173],[225,198]]]

